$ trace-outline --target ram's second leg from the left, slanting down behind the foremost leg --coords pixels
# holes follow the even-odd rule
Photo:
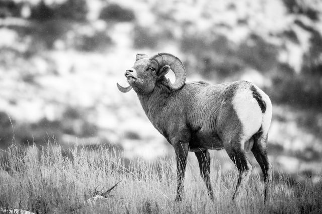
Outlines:
[[[195,152],[195,155],[197,157],[198,163],[199,163],[199,168],[200,168],[200,175],[205,181],[207,190],[208,190],[208,195],[211,200],[213,200],[213,192],[212,192],[212,187],[210,183],[210,156],[208,150],[205,151],[198,151]]]

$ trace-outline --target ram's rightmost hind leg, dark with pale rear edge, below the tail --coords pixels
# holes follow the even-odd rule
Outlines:
[[[264,177],[264,203],[266,202],[267,194],[269,191],[269,183],[272,180],[272,166],[267,157],[267,135],[263,136],[262,133],[257,133],[253,136],[254,145],[252,153],[260,165]]]

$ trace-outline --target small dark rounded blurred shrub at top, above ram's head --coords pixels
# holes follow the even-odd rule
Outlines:
[[[125,9],[118,4],[109,4],[104,7],[99,15],[100,19],[105,21],[128,22],[135,19],[134,12],[130,9]]]

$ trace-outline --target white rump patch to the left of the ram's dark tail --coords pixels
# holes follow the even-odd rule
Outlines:
[[[263,113],[249,88],[237,89],[232,105],[243,125],[243,142],[245,142],[260,129]]]

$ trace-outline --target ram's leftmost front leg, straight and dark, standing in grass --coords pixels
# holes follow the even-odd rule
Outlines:
[[[183,181],[185,178],[187,156],[189,151],[189,145],[187,142],[178,141],[173,144],[176,152],[177,160],[177,197],[176,200],[180,201],[184,194]]]

